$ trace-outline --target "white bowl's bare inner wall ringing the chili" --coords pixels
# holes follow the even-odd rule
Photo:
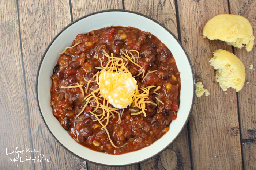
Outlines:
[[[53,67],[59,58],[59,51],[70,46],[77,34],[85,34],[106,26],[131,26],[151,32],[172,52],[181,78],[180,107],[177,119],[170,124],[170,130],[159,140],[141,150],[121,155],[110,155],[90,150],[75,142],[53,116],[50,107],[50,88]],[[185,127],[195,99],[195,81],[188,55],[177,38],[159,22],[140,13],[125,10],[107,10],[83,16],[65,27],[49,44],[39,64],[37,73],[37,103],[42,119],[52,134],[67,151],[76,157],[100,165],[122,166],[146,161],[165,150]]]

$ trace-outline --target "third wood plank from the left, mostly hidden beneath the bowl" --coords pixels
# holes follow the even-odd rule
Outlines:
[[[76,20],[84,15],[87,15],[92,12],[106,10],[106,9],[123,9],[123,5],[120,1],[111,1],[111,0],[72,0],[72,15],[73,19]],[[87,163],[88,169],[93,170],[121,170],[121,169],[131,169],[138,170],[138,165],[125,166],[125,167],[110,167],[110,166],[101,166],[93,163]]]

